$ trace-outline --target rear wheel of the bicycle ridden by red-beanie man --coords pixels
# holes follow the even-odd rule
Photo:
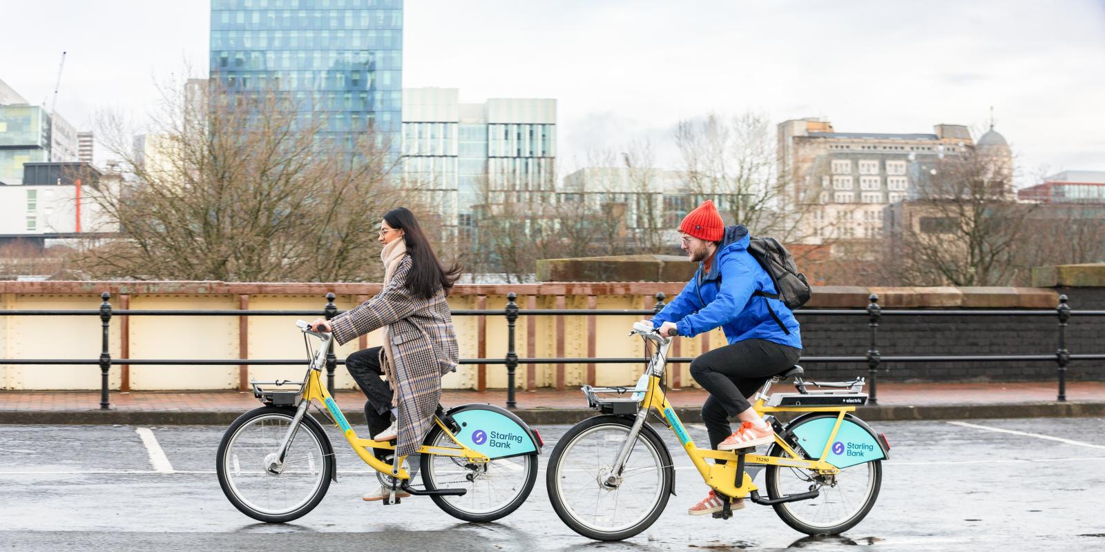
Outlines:
[[[789,425],[788,429],[827,416],[836,417],[835,414],[803,417]],[[778,444],[771,445],[768,455],[788,457]],[[809,458],[804,452],[802,457]],[[817,498],[774,506],[785,523],[806,534],[839,534],[855,527],[875,506],[883,481],[881,460],[856,464],[833,476],[819,476],[807,469],[783,466],[768,466],[765,471],[770,498],[814,489],[820,492]]]

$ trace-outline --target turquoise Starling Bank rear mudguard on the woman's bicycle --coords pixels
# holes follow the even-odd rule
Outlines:
[[[540,454],[540,442],[533,429],[506,408],[492,404],[464,404],[445,413],[453,418],[456,438],[464,446],[487,455],[505,458],[525,454]]]

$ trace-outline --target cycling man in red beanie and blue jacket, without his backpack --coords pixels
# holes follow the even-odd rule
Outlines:
[[[769,444],[775,434],[746,397],[798,362],[802,352],[798,321],[786,304],[775,298],[778,290],[770,275],[748,253],[748,229],[725,226],[712,201],[704,201],[683,219],[680,234],[682,250],[692,263],[698,263],[698,269],[680,295],[649,321],[664,337],[694,337],[723,328],[728,344],[691,363],[691,375],[709,392],[702,418],[711,448],[734,450]],[[733,416],[741,424],[730,433]],[[722,500],[711,491],[687,513],[720,511]],[[744,500],[736,500],[732,508],[744,508]]]

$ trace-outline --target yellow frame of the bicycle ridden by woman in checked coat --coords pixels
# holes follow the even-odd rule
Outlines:
[[[372,469],[377,471],[387,474],[397,479],[409,480],[410,473],[407,469],[400,467],[402,466],[402,461],[406,458],[406,456],[397,458],[394,465],[388,465],[382,460],[380,460],[379,458],[377,458],[376,455],[371,454],[372,449],[379,448],[386,450],[394,450],[396,447],[387,442],[377,442],[372,439],[358,437],[357,432],[346,420],[345,414],[341,413],[341,408],[338,408],[337,403],[334,401],[334,396],[330,395],[329,391],[326,389],[326,385],[322,384],[320,380],[322,367],[326,361],[326,352],[329,350],[332,346],[334,339],[333,336],[329,333],[319,333],[309,330],[304,330],[304,333],[319,338],[323,341],[323,343],[322,347],[319,348],[318,353],[315,355],[314,359],[312,359],[311,367],[307,370],[307,375],[299,390],[302,399],[299,401],[298,407],[296,408],[295,417],[292,421],[292,425],[288,428],[288,432],[284,436],[283,440],[281,442],[281,446],[277,450],[278,461],[283,461],[284,454],[287,450],[287,446],[292,440],[291,439],[292,435],[295,433],[301,420],[306,414],[307,408],[311,406],[311,402],[317,401],[319,404],[326,407],[326,412],[329,413],[330,420],[334,422],[335,426],[341,429],[341,434],[345,436],[346,442],[349,443],[349,446],[352,448],[355,453],[357,453],[357,456],[359,456],[360,459],[365,461],[365,464],[369,465]],[[275,383],[276,385],[281,384],[281,382],[253,382],[253,383],[255,389],[256,385],[264,383]],[[421,447],[419,447],[418,453],[465,458],[471,463],[477,463],[477,464],[490,461],[486,455],[477,453],[465,446],[463,443],[461,443],[460,439],[457,439],[456,436],[453,435],[453,432],[451,432],[449,427],[441,421],[441,418],[434,416],[433,421],[434,424],[441,427],[441,429],[445,433],[445,435],[448,435],[449,438],[459,448],[422,445]]]

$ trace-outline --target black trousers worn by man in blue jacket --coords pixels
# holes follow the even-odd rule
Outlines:
[[[798,362],[801,349],[766,339],[747,339],[705,352],[691,362],[691,376],[709,391],[702,421],[709,447],[730,435],[729,418],[751,407],[751,396],[769,378]]]

